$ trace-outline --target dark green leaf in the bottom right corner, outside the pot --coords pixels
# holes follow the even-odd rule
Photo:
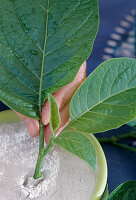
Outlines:
[[[119,185],[108,197],[108,200],[135,200],[136,181],[127,181]]]

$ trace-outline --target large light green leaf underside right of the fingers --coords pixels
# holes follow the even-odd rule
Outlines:
[[[68,127],[97,133],[120,127],[135,117],[136,60],[111,59],[102,63],[74,95]]]

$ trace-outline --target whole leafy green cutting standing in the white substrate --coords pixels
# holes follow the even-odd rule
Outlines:
[[[111,59],[79,87],[70,102],[70,122],[55,137],[60,114],[52,94],[74,79],[90,55],[98,16],[97,0],[1,0],[0,99],[39,120],[34,179],[42,178],[44,157],[55,144],[95,171],[96,150],[89,135],[118,128],[136,117],[136,60]],[[45,146],[41,113],[47,98],[52,133]],[[135,182],[127,185],[133,187]],[[124,185],[120,188],[123,191]]]

